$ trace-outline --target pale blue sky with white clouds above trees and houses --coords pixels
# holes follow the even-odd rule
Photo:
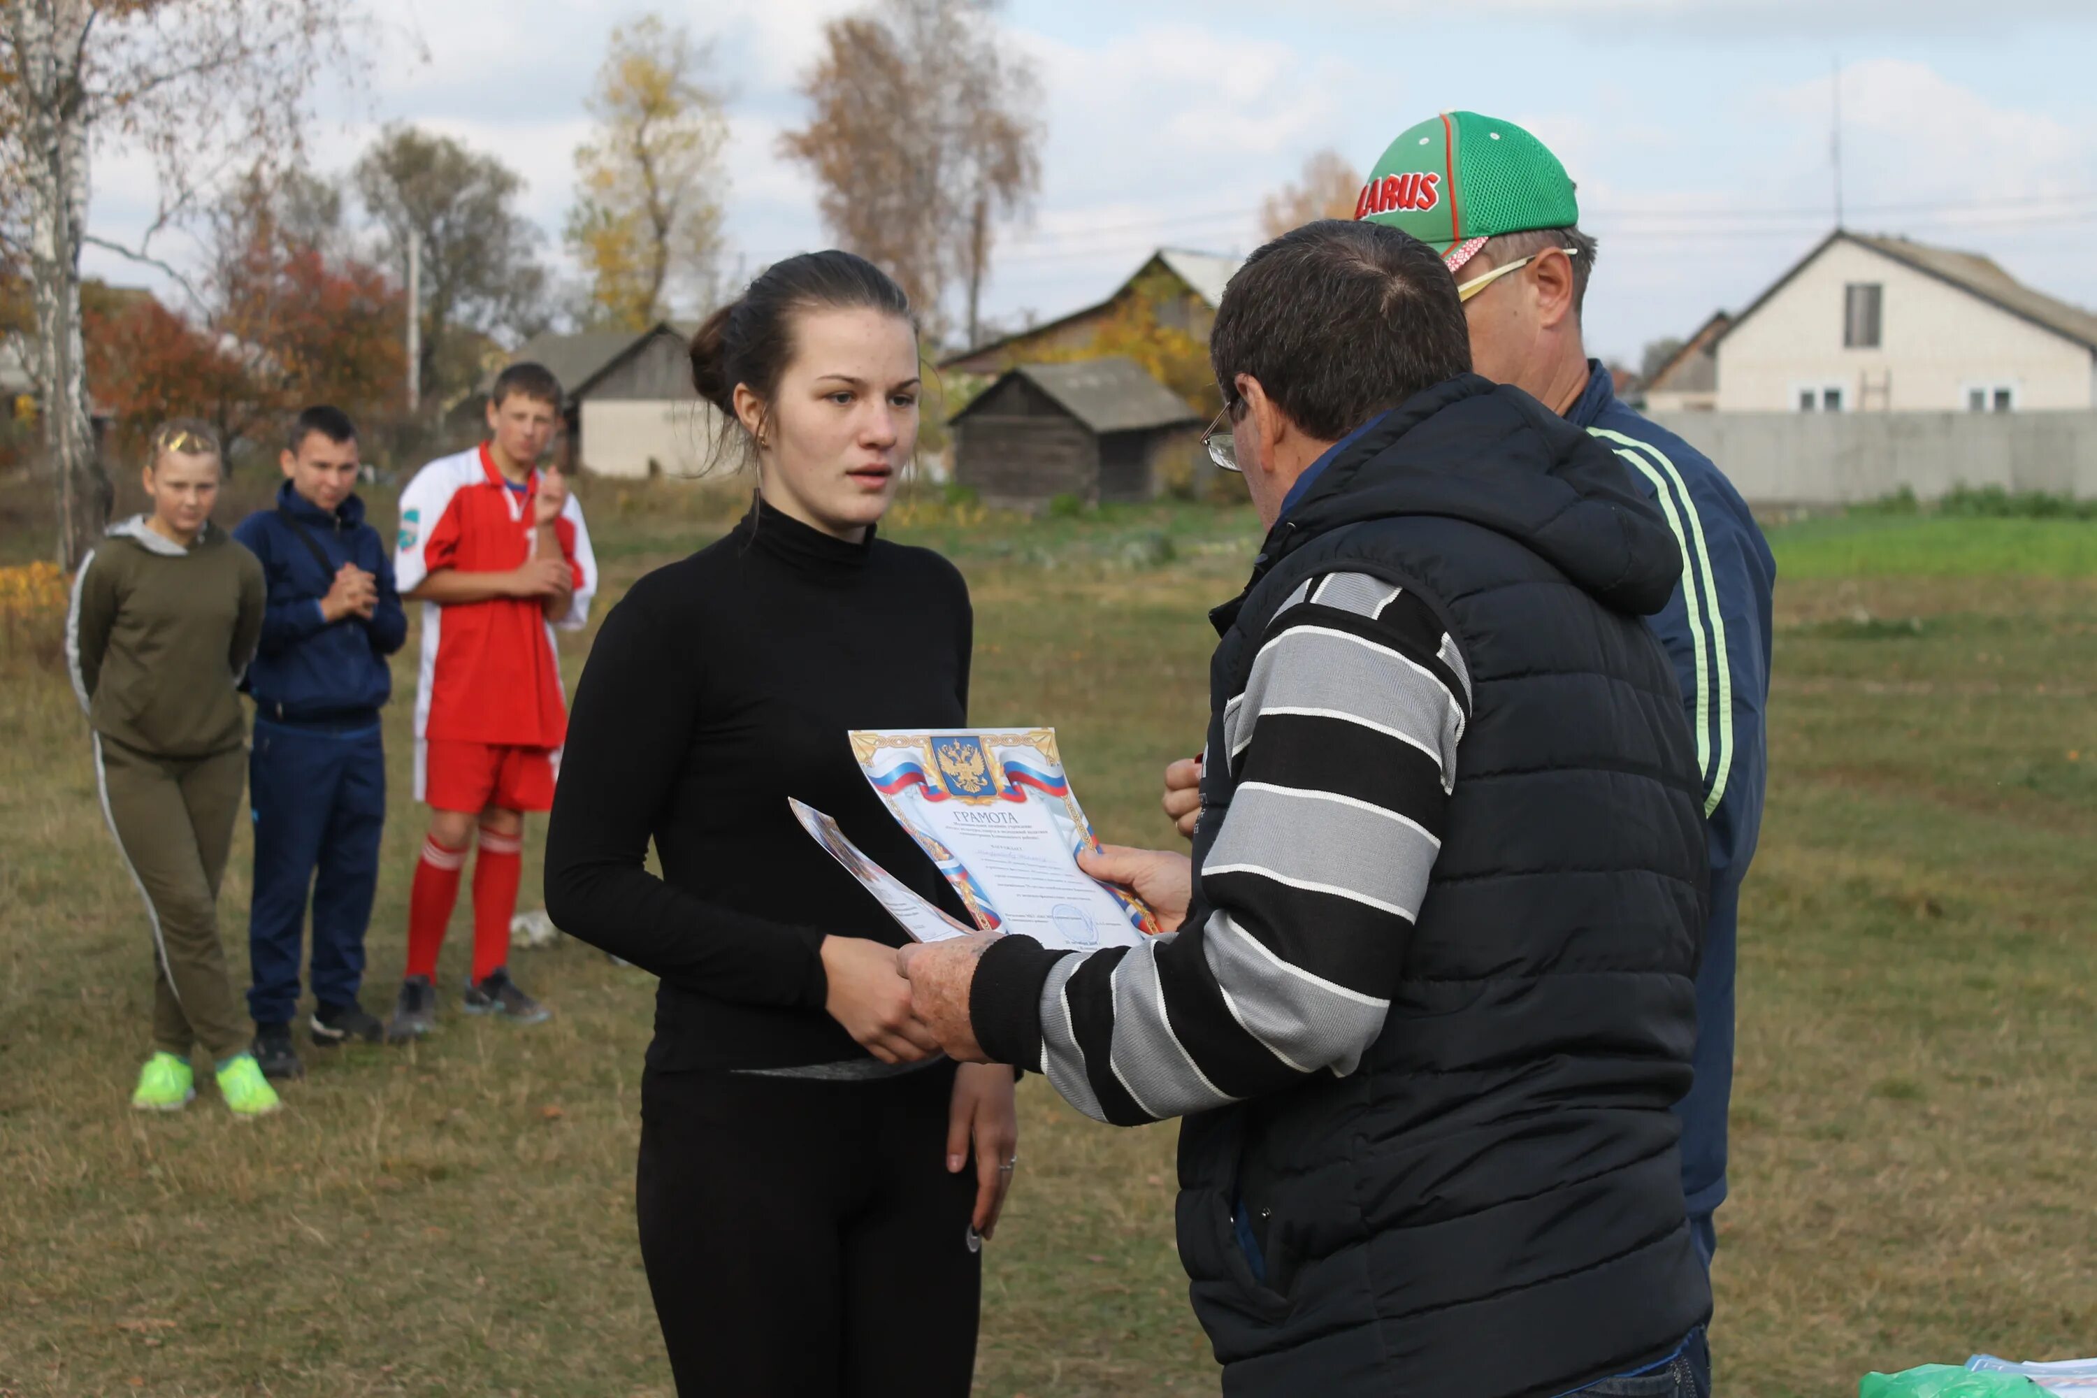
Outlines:
[[[344,170],[388,119],[493,151],[564,264],[583,94],[610,25],[646,8],[377,0],[367,90],[323,88],[315,159]],[[803,115],[793,84],[822,21],[849,8],[656,6],[717,46],[732,268],[826,243],[776,136]],[[1468,107],[1564,159],[1602,239],[1590,346],[1636,363],[1745,306],[1833,224],[1837,59],[1852,228],[1986,252],[2097,306],[2091,0],[1013,0],[1004,25],[1040,65],[1048,145],[1032,226],[1000,235],[994,319],[1097,302],[1158,245],[1248,252],[1260,197],[1319,147],[1367,168],[1399,130]],[[151,203],[138,161],[99,159],[96,233],[134,233]],[[96,249],[88,266],[153,281]]]

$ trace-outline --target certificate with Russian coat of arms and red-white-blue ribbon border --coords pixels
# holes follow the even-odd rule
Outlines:
[[[1160,931],[1139,899],[1078,868],[1099,838],[1055,729],[862,729],[851,755],[986,933],[1093,952]]]

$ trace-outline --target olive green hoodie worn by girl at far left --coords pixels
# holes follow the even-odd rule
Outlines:
[[[88,723],[159,757],[208,757],[245,736],[237,685],[262,637],[262,564],[206,522],[182,545],[134,516],[73,578],[65,656]]]

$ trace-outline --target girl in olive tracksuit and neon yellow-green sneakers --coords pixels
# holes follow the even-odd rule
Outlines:
[[[218,442],[201,423],[153,434],[149,516],[130,518],[80,564],[67,660],[88,711],[103,815],[153,929],[153,1046],[132,1105],[176,1111],[195,1096],[201,1046],[237,1115],[273,1111],[218,945],[245,776],[235,685],[262,633],[262,564],[210,522]]]

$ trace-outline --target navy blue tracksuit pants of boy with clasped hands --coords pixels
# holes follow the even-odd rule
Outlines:
[[[247,792],[256,824],[247,1012],[258,1025],[283,1025],[298,1010],[308,884],[315,1000],[350,1004],[365,979],[365,926],[386,826],[386,750],[377,723],[256,719]]]

